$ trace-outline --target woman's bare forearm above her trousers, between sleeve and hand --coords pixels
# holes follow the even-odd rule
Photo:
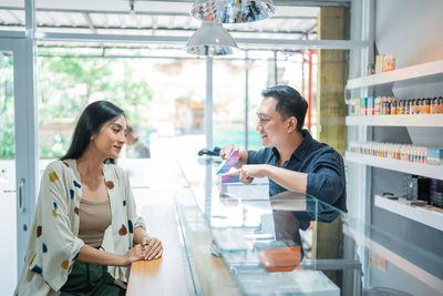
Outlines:
[[[80,248],[78,261],[106,266],[127,266],[130,264],[125,255],[96,249],[89,245]]]

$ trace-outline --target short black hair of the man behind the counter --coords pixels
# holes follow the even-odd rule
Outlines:
[[[288,85],[276,85],[261,91],[261,95],[277,100],[276,111],[280,113],[282,120],[295,116],[297,119],[297,131],[301,132],[308,102],[298,91]]]

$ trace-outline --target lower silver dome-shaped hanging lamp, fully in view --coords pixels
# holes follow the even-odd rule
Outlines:
[[[189,38],[186,52],[198,55],[233,54],[237,48],[233,37],[220,23],[203,21],[202,27]]]

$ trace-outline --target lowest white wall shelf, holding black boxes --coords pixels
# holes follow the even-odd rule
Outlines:
[[[400,201],[375,195],[375,206],[395,213],[400,216],[416,221],[439,231],[443,231],[443,214],[426,207],[411,206]]]

